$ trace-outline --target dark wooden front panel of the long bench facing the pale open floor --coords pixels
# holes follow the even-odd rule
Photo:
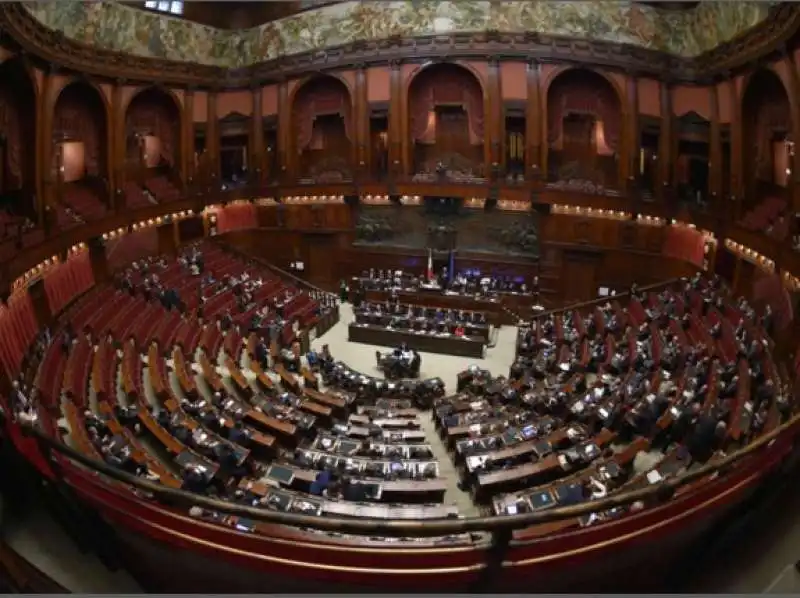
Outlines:
[[[389,330],[380,326],[348,327],[348,340],[354,343],[378,345],[380,347],[399,347],[403,343],[416,351],[457,355],[483,359],[483,341],[462,336],[436,336],[408,330]]]

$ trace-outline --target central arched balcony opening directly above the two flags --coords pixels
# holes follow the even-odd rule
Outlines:
[[[434,64],[408,88],[408,135],[414,177],[485,176],[483,88],[468,69]]]

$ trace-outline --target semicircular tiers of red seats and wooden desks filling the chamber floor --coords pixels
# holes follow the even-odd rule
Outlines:
[[[23,388],[51,435],[147,480],[265,509],[393,520],[515,515],[645,488],[747,445],[795,409],[761,318],[699,275],[521,323],[508,376],[466,369],[432,410],[404,385],[349,375],[326,350],[301,355],[297,330],[325,318],[338,318],[332,295],[196,244],[140,260],[74,303]]]

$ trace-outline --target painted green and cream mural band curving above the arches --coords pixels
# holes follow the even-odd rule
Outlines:
[[[87,45],[240,68],[361,40],[486,30],[588,38],[691,58],[757,25],[774,4],[710,1],[670,11],[630,1],[350,1],[236,31],[118,2],[49,0],[24,6],[46,27]]]

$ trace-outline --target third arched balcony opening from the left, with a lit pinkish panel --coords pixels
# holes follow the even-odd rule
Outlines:
[[[125,183],[129,208],[181,196],[181,112],[177,100],[157,87],[137,93],[125,112]]]

